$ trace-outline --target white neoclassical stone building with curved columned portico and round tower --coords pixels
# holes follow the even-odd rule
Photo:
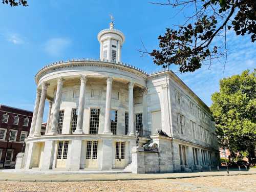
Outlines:
[[[147,74],[122,63],[125,37],[113,23],[98,40],[98,60],[56,62],[36,74],[31,132],[16,168],[164,173],[217,165],[208,106],[172,71]]]

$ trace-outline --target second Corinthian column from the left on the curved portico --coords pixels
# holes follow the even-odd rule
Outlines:
[[[41,135],[42,117],[44,116],[47,87],[48,87],[48,84],[46,84],[46,82],[42,82],[41,98],[40,98],[40,103],[39,103],[38,113],[37,113],[37,118],[35,123],[35,132],[33,133],[33,136]]]

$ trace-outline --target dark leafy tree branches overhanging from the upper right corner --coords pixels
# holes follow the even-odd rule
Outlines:
[[[212,59],[227,55],[226,32],[233,30],[237,35],[249,34],[256,40],[256,1],[255,0],[168,0],[165,3],[188,12],[184,25],[167,28],[158,37],[159,50],[149,53],[159,66],[179,66],[180,72],[194,72],[202,64],[211,65]],[[189,10],[188,10],[189,9]],[[223,38],[224,44],[217,45],[214,39]],[[143,53],[148,53],[142,51]]]

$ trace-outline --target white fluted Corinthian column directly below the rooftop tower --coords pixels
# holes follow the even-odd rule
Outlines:
[[[112,135],[110,129],[110,110],[111,110],[111,92],[112,92],[112,77],[106,79],[106,110],[105,110],[105,122],[103,134]]]

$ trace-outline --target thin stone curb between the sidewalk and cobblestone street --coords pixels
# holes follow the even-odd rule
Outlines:
[[[157,178],[113,178],[113,179],[0,179],[0,181],[15,182],[87,182],[87,181],[135,181],[135,180],[161,180],[161,179],[186,179],[197,177],[220,177],[220,176],[238,176],[238,175],[256,175],[256,173],[241,174],[223,174],[223,175],[198,175],[198,176],[176,176],[176,177],[157,177]]]

